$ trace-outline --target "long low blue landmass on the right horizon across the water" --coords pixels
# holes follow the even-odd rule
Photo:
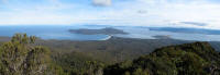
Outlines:
[[[186,33],[186,34],[206,34],[206,35],[220,35],[217,29],[202,29],[202,28],[175,28],[175,27],[150,27],[150,30],[157,32],[172,32],[172,33]]]

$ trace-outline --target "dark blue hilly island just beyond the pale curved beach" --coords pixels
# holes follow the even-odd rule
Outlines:
[[[106,28],[101,28],[101,29],[86,29],[86,28],[69,29],[68,32],[75,33],[75,34],[84,34],[84,35],[97,35],[97,34],[103,34],[103,35],[122,34],[122,35],[127,35],[127,34],[129,34],[129,33],[125,33],[121,29],[116,29],[116,28],[112,28],[112,27],[106,27]]]

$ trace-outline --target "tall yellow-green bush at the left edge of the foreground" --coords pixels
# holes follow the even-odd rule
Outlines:
[[[0,47],[1,75],[55,75],[63,74],[58,66],[53,65],[50,50],[34,46],[35,37],[16,34],[11,41]],[[57,73],[61,72],[61,73]]]

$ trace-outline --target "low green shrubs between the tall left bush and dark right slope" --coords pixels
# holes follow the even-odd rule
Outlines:
[[[52,58],[70,75],[102,75],[105,64],[80,52],[54,53]]]

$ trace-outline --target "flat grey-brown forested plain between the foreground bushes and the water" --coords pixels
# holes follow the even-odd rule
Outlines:
[[[134,39],[112,37],[103,41],[74,41],[74,40],[37,40],[37,45],[46,46],[53,51],[62,53],[80,52],[107,63],[117,63],[136,59],[148,54],[156,48],[180,45],[193,41],[175,39]]]

